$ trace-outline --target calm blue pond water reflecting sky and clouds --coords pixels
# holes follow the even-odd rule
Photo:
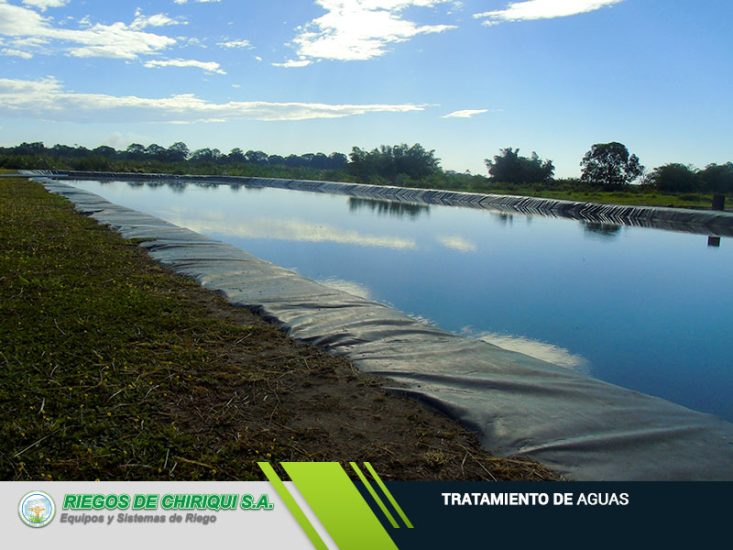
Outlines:
[[[269,188],[71,182],[608,382],[733,420],[733,243]]]

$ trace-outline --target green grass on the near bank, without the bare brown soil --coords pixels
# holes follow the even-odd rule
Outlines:
[[[216,463],[159,401],[185,389],[179,365],[211,361],[200,338],[253,329],[186,308],[132,243],[38,185],[0,181],[0,219],[0,478],[145,477],[171,450]]]

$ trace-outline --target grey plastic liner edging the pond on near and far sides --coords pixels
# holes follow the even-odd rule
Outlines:
[[[105,176],[130,179],[128,174],[83,173],[87,179]],[[225,178],[223,183],[233,179]],[[323,286],[236,247],[56,179],[38,181],[123,237],[144,239],[141,246],[173,271],[223,293],[234,305],[259,312],[294,338],[345,355],[359,369],[394,382],[393,391],[444,411],[474,429],[482,444],[497,454],[531,457],[576,480],[733,480],[733,424],[729,422],[427,326],[382,304]],[[385,191],[354,184],[254,181],[359,196],[372,189],[375,197],[386,192],[411,200],[416,194],[426,199],[427,194],[427,200],[468,201],[477,207],[487,197],[492,204],[500,201],[485,195]],[[530,203],[518,200],[521,197],[511,198],[515,199],[509,208],[529,207]],[[532,208],[541,208],[541,199],[531,201]],[[563,211],[557,215],[580,215],[584,208],[546,202],[550,211]],[[622,223],[733,234],[729,214],[634,207],[608,207],[603,213],[603,208],[586,205],[585,211],[591,219],[600,216],[599,221],[611,216]]]

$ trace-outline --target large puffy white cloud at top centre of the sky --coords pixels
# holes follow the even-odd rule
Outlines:
[[[326,14],[298,28],[293,39],[298,60],[279,66],[297,67],[305,60],[367,60],[382,56],[391,44],[420,34],[440,33],[452,25],[419,25],[404,18],[412,7],[430,8],[451,0],[316,0]],[[288,64],[289,63],[289,64]]]

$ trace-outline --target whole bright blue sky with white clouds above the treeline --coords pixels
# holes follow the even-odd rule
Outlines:
[[[0,0],[0,145],[733,160],[729,0]]]

